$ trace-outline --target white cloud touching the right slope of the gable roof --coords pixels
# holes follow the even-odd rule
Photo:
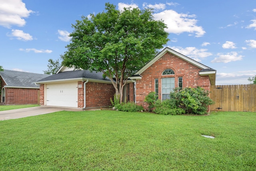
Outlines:
[[[212,53],[207,52],[207,49],[197,49],[195,47],[187,47],[187,48],[170,47],[170,48],[172,50],[175,50],[176,52],[179,52],[180,54],[188,56],[189,58],[192,58],[198,62],[200,62],[202,58],[212,56]]]

